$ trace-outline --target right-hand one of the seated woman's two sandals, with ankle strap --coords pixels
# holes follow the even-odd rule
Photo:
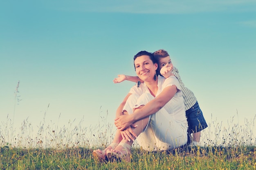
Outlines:
[[[124,154],[121,151],[111,151],[111,150],[107,150],[107,157],[108,157],[108,161],[126,161],[126,162],[130,162],[131,161],[131,154],[129,152],[131,146],[127,143],[119,143],[119,145],[121,145],[124,149],[124,151],[126,152],[126,154]]]

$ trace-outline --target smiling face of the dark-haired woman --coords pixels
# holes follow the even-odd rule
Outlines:
[[[154,79],[157,63],[153,63],[149,56],[139,56],[134,60],[135,71],[137,76],[143,81]]]

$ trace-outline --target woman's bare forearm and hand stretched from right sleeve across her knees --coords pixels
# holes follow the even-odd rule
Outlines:
[[[135,110],[133,114],[117,117],[115,119],[115,126],[118,130],[124,130],[132,123],[158,112],[168,101],[171,100],[171,98],[173,98],[176,92],[176,85],[165,87],[155,99],[148,102],[141,109]]]

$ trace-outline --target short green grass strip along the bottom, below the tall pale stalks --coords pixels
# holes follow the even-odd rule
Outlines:
[[[255,170],[256,147],[193,147],[170,152],[145,152],[132,148],[132,161],[100,163],[92,148],[1,147],[2,170]]]

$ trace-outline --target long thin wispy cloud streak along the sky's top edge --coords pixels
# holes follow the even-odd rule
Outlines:
[[[111,13],[202,13],[256,11],[255,0],[63,0],[61,10]],[[52,6],[52,4],[51,4]]]

